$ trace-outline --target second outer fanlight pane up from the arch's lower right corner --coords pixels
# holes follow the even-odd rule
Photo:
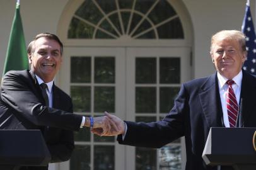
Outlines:
[[[175,16],[177,13],[175,10],[170,6],[170,3],[166,0],[161,0],[154,9],[149,13],[148,17],[153,23],[156,25],[161,23],[161,21],[165,21],[172,16]]]

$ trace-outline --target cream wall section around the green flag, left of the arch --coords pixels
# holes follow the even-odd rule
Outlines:
[[[20,0],[20,13],[26,45],[41,32],[57,33],[61,13],[68,0]],[[15,14],[16,0],[0,1],[0,74]]]

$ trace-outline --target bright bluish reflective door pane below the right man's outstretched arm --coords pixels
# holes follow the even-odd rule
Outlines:
[[[182,169],[182,148],[180,146],[165,146],[158,150],[161,170]]]

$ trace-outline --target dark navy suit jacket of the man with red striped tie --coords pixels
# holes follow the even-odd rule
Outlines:
[[[256,127],[255,96],[256,78],[243,72],[241,126]],[[185,136],[186,170],[216,169],[204,164],[202,151],[210,128],[224,127],[217,74],[182,84],[172,110],[162,121],[126,123],[124,141],[121,135],[117,138],[120,144],[159,148]]]

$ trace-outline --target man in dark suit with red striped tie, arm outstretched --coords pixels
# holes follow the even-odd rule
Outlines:
[[[206,166],[202,151],[211,127],[236,126],[241,102],[243,120],[237,124],[256,127],[256,78],[241,71],[246,57],[245,36],[241,31],[219,31],[211,41],[216,73],[182,84],[172,110],[159,122],[123,122],[108,115],[117,124],[119,132],[107,135],[119,135],[120,144],[157,148],[185,136],[186,170],[233,169]],[[231,80],[233,84],[226,83]],[[100,135],[97,128],[92,132]]]

